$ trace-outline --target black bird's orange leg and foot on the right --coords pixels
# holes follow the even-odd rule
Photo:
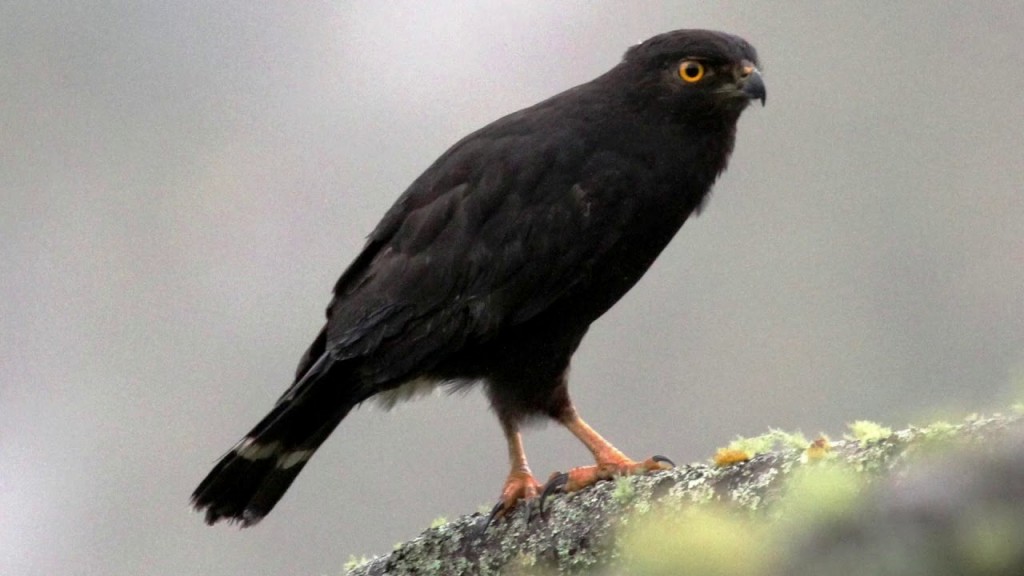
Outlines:
[[[610,442],[597,434],[597,430],[584,422],[574,408],[569,408],[561,423],[579,438],[580,442],[584,443],[584,446],[594,454],[594,460],[597,462],[593,466],[572,468],[559,479],[560,489],[564,492],[574,492],[600,480],[608,480],[616,476],[645,474],[672,467],[672,462],[663,456],[654,456],[642,462],[631,460]],[[560,476],[557,472],[552,475],[549,483],[554,482]]]

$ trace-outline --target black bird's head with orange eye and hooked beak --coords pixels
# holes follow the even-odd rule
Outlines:
[[[758,53],[722,32],[667,32],[627,50],[617,67],[631,98],[659,118],[735,121],[751,100],[765,104]]]

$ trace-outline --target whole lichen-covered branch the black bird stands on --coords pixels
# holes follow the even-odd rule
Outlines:
[[[465,516],[351,567],[348,574],[884,573],[889,567],[865,572],[874,565],[864,563],[893,558],[894,547],[907,551],[902,535],[893,532],[905,524],[900,513],[955,523],[943,516],[949,510],[937,508],[965,498],[1000,510],[1001,524],[993,532],[997,542],[979,540],[986,566],[1024,566],[1024,538],[998,538],[1005,530],[1024,534],[1022,422],[1019,415],[995,415],[896,433],[858,422],[851,425],[852,436],[837,442],[772,431],[734,442],[713,463],[617,479],[549,499],[544,517],[536,506],[523,505],[484,531],[485,515]],[[936,467],[930,459],[941,463]],[[1015,462],[1020,465],[1011,465]],[[999,483],[1022,493],[1010,491],[990,502],[994,492],[984,487],[991,483],[971,480],[978,475],[1002,475]],[[936,486],[937,478],[945,480]],[[975,493],[969,493],[968,481],[984,489],[972,485]],[[984,520],[972,522],[981,536],[992,536]],[[864,529],[858,522],[876,524]],[[876,530],[880,526],[885,530]],[[920,522],[907,526],[920,528]],[[952,538],[963,533],[956,526],[946,528]],[[876,541],[872,530],[885,537]],[[928,534],[925,541],[941,540],[934,531]],[[872,550],[877,544],[887,546],[886,556]],[[967,570],[942,554],[936,561],[931,547],[918,551],[919,568],[935,564],[922,574]],[[818,571],[807,572],[809,566]]]

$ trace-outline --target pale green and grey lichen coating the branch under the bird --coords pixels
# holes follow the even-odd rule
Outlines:
[[[353,557],[345,568],[360,576],[770,574],[786,542],[856,516],[877,479],[911,466],[920,447],[940,450],[943,443],[954,444],[948,439],[980,443],[986,430],[1011,420],[975,417],[897,433],[857,423],[849,440],[829,444],[827,458],[814,459],[805,457],[809,443],[801,435],[770,430],[744,441],[761,450],[746,462],[724,468],[692,464],[600,482],[548,498],[543,518],[536,506],[519,506],[486,532],[482,524],[489,508],[451,523],[437,519],[387,557]],[[986,570],[1009,566],[1018,549],[993,537],[1024,529],[1014,524],[1016,518],[996,522],[998,511],[989,515],[992,522],[982,517],[963,532],[964,546],[976,550],[971,562]]]

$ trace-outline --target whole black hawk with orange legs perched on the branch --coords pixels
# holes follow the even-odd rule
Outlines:
[[[436,387],[481,386],[501,425],[509,472],[493,517],[546,489],[522,439],[538,420],[594,457],[553,477],[559,491],[667,467],[629,458],[583,420],[570,359],[701,208],[740,113],[765,104],[759,66],[738,36],[667,32],[457,141],[369,235],[293,383],[199,484],[194,508],[210,525],[254,525],[353,408]]]

